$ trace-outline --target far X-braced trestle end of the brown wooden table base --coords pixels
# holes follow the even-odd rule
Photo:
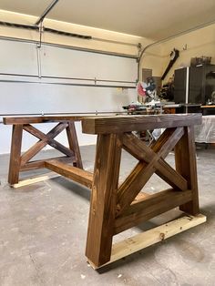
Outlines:
[[[3,122],[5,125],[13,125],[8,183],[11,186],[17,184],[20,172],[46,168],[49,159],[32,160],[46,145],[50,145],[64,155],[60,158],[50,158],[51,162],[53,162],[53,159],[57,159],[59,163],[72,163],[78,169],[83,169],[75,128],[75,121],[80,121],[81,118],[80,116],[4,117]],[[47,134],[33,126],[33,124],[53,122],[56,122],[56,127],[52,128]],[[67,131],[68,147],[55,139],[65,129]],[[22,154],[23,131],[36,137],[38,141]],[[48,166],[51,166],[50,164]]]

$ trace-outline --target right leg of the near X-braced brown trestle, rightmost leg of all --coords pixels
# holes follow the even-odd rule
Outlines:
[[[184,129],[184,135],[175,147],[176,170],[187,179],[188,188],[192,190],[192,200],[181,205],[179,209],[191,215],[196,215],[200,212],[200,207],[194,128],[193,126],[189,126]]]

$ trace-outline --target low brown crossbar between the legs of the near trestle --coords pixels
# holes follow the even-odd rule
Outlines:
[[[132,204],[115,220],[115,234],[128,230],[140,222],[150,220],[159,214],[174,209],[192,198],[190,189],[178,191],[166,189]]]

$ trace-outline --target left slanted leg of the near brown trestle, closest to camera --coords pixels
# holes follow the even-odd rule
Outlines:
[[[121,140],[98,135],[97,155],[87,231],[87,259],[96,266],[110,259],[116,216]]]

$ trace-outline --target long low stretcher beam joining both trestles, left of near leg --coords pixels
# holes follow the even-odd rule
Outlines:
[[[84,169],[61,163],[57,159],[45,161],[45,167],[68,179],[73,179],[87,188],[92,187],[93,174]]]

